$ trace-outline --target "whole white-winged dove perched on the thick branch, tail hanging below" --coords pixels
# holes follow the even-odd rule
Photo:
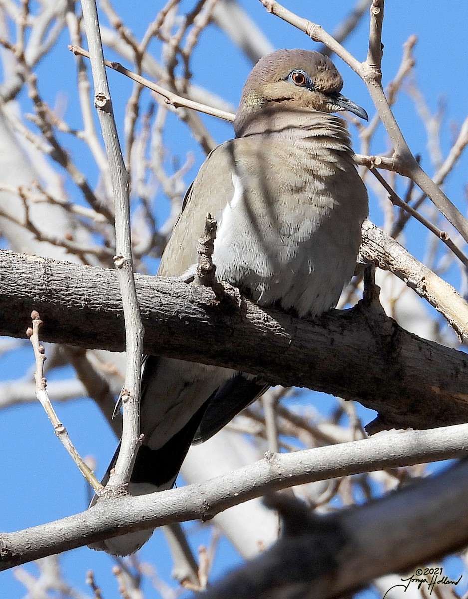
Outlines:
[[[367,114],[341,95],[342,85],[333,63],[317,52],[279,50],[257,63],[242,92],[236,137],[208,155],[189,187],[160,275],[193,272],[209,212],[218,225],[212,256],[218,279],[259,305],[299,317],[335,307],[354,273],[367,215],[347,125],[331,113]],[[144,441],[130,492],[171,488],[190,444],[211,437],[266,388],[227,368],[150,356],[142,376]],[[94,547],[126,555],[151,533]]]

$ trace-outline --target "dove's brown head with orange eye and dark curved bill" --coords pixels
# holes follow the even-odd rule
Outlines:
[[[343,80],[333,62],[318,52],[277,50],[260,59],[242,91],[234,123],[271,110],[350,111],[368,120],[367,113],[342,95]]]

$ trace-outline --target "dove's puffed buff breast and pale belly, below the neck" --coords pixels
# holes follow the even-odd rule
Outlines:
[[[339,161],[336,150],[320,158],[306,142],[294,152],[265,143],[254,156],[236,156],[232,196],[217,214],[218,278],[260,305],[279,303],[299,316],[336,305],[354,272],[367,212],[350,152],[341,153]]]

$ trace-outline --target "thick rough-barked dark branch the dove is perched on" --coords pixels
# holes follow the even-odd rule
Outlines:
[[[34,308],[44,341],[124,349],[114,271],[0,252],[0,273],[0,334],[24,338]],[[136,285],[146,353],[359,401],[379,412],[373,432],[468,422],[466,355],[409,334],[374,304],[312,322],[262,310],[229,286],[219,297],[177,279],[139,275]]]

